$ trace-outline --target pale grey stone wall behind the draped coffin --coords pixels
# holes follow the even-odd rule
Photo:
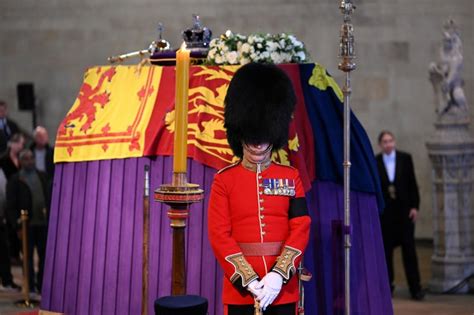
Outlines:
[[[431,238],[430,164],[425,141],[432,133],[433,92],[427,67],[437,58],[441,26],[453,17],[464,40],[468,101],[474,99],[474,1],[356,0],[354,17],[358,70],[353,109],[375,145],[391,129],[399,148],[413,154],[422,195],[417,236]],[[215,35],[236,32],[293,32],[313,59],[339,82],[339,0],[2,0],[0,2],[0,98],[11,116],[19,113],[16,84],[34,82],[41,99],[38,121],[52,134],[72,105],[84,69],[109,55],[148,47],[156,25],[180,44],[180,30],[199,13]],[[472,107],[471,107],[472,111]],[[377,148],[375,147],[377,150]]]

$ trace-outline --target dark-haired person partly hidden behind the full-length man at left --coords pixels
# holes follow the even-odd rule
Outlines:
[[[3,171],[7,181],[20,169],[20,160],[18,155],[21,150],[23,150],[24,146],[25,138],[23,135],[20,133],[15,133],[8,141],[8,148],[6,152],[0,157],[0,169]],[[14,264],[19,265],[21,263],[21,243],[18,239],[15,229],[13,229],[13,227],[10,225],[10,222],[7,222],[7,234],[10,244],[10,257]]]

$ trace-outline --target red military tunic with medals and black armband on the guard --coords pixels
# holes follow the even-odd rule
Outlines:
[[[257,173],[237,163],[216,174],[208,226],[225,274],[224,304],[253,305],[252,295],[242,287],[269,271],[278,272],[286,282],[273,304],[298,301],[298,279],[291,275],[308,242],[311,222],[304,196],[293,167],[271,163]],[[258,256],[255,251],[264,247]]]

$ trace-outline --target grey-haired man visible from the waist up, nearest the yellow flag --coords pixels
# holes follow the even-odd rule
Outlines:
[[[54,149],[49,145],[48,131],[42,126],[33,132],[33,144],[30,149],[35,156],[36,169],[48,174],[49,180],[54,176]]]

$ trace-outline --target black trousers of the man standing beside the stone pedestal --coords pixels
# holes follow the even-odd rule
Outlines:
[[[410,293],[414,295],[421,289],[421,286],[415,248],[415,223],[408,215],[409,211],[407,210],[387,207],[382,215],[381,223],[390,286],[393,290],[393,250],[400,245],[408,287]]]

